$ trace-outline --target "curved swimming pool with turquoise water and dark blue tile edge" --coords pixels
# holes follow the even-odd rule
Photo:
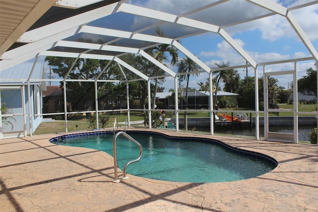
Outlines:
[[[159,133],[127,132],[143,146],[140,161],[128,166],[135,176],[175,182],[228,182],[253,178],[273,170],[277,161],[269,156],[240,151],[220,141],[203,138],[169,137]],[[98,149],[113,155],[112,132],[60,136],[59,145]],[[124,136],[117,141],[117,163],[139,156],[139,147]]]

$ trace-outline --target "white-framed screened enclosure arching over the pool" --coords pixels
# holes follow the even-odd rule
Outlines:
[[[210,114],[233,118],[246,99],[252,100],[252,106],[241,108],[239,114],[247,117],[239,118],[250,122],[256,140],[297,143],[303,116],[317,127],[317,90],[316,99],[299,105],[303,99],[297,85],[307,69],[317,70],[317,0],[290,5],[274,0],[0,3],[0,138],[32,136],[49,118],[61,119],[65,132],[101,129],[100,119],[114,113],[127,116],[126,126],[138,122],[131,120],[132,114],[147,113],[147,127],[153,128],[152,111],[169,115],[176,131],[194,127],[200,131],[198,125],[190,124],[190,114],[200,113],[202,117],[196,118],[206,121],[202,131],[214,134],[221,122]],[[304,21],[300,15],[304,13],[313,20]],[[276,48],[294,52],[278,54]],[[178,54],[175,63],[169,49]],[[164,52],[161,57],[159,51]],[[180,62],[186,60],[197,68],[179,71]],[[236,95],[239,103],[217,94],[234,82],[234,78],[216,82],[230,69],[237,71],[245,88]],[[192,89],[208,94],[207,106],[199,106],[198,96],[195,108],[180,106],[188,97],[180,97],[186,92],[187,78]],[[273,86],[273,79],[281,84]],[[201,82],[206,90],[199,88]],[[247,84],[253,94],[244,87]],[[290,92],[288,106],[275,106],[281,99],[275,94],[278,87]],[[164,106],[155,98],[162,92],[169,93]],[[218,110],[216,103],[222,104]],[[291,132],[271,130],[277,122],[273,116],[279,116],[277,120],[288,116]],[[93,125],[77,122],[89,122],[91,117]],[[143,125],[144,116],[140,117],[138,123]],[[112,118],[108,122],[114,123]]]

